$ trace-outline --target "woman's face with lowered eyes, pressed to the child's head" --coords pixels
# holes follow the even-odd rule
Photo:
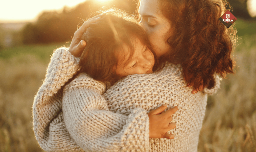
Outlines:
[[[139,14],[140,24],[147,32],[157,56],[167,54],[171,49],[167,42],[171,24],[160,10],[159,0],[141,0]]]

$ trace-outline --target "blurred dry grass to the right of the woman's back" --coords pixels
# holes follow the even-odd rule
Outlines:
[[[236,74],[208,98],[198,151],[256,152],[256,35],[243,39],[234,53]]]

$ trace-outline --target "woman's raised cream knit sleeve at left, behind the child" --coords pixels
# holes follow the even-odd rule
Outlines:
[[[70,137],[62,113],[62,86],[78,69],[79,58],[67,48],[52,54],[44,83],[33,103],[34,133],[45,151],[81,151]]]

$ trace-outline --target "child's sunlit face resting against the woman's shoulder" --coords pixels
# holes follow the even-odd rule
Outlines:
[[[139,40],[134,48],[134,55],[129,61],[129,49],[123,49],[124,51],[117,54],[118,65],[116,74],[118,76],[124,77],[131,74],[153,73],[152,69],[155,64],[153,53]]]

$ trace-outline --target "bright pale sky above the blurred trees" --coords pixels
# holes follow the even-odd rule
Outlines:
[[[4,0],[0,5],[0,23],[35,21],[44,10],[62,10],[64,6],[74,7],[85,0]],[[107,2],[111,0],[95,0]],[[248,0],[251,16],[256,16],[256,0]]]

